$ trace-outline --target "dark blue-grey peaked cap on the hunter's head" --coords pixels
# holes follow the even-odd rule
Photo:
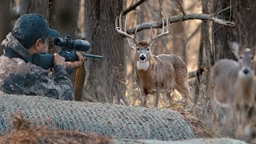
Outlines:
[[[24,14],[14,24],[13,35],[22,46],[30,48],[39,38],[58,38],[57,30],[50,29],[46,19],[39,14]]]

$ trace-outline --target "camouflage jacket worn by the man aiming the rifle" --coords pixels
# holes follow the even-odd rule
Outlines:
[[[62,66],[55,65],[50,78],[47,70],[31,63],[28,50],[11,33],[6,35],[2,46],[5,50],[14,50],[22,58],[0,57],[0,91],[74,100],[72,82]]]

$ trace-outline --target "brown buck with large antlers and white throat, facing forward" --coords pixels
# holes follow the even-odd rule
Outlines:
[[[119,26],[118,26],[119,23]],[[119,34],[127,37],[130,47],[134,49],[134,69],[135,79],[141,90],[141,106],[146,106],[147,94],[154,94],[154,107],[158,106],[159,93],[164,93],[166,106],[170,106],[170,91],[178,90],[186,102],[192,105],[190,90],[188,85],[188,73],[186,63],[182,58],[174,54],[161,54],[154,56],[151,54],[151,46],[157,38],[170,34],[170,22],[162,18],[162,34],[153,37],[152,33],[148,41],[138,41],[136,39],[137,29],[134,36],[126,33],[126,22],[122,29],[122,13],[116,18],[115,29]],[[152,29],[152,28],[151,28]],[[153,32],[153,30],[152,30]]]

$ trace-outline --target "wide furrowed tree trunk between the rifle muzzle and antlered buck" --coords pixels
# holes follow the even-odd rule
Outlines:
[[[114,30],[115,18],[122,11],[122,0],[86,0],[86,39],[90,54],[103,59],[86,62],[85,95],[90,102],[116,102],[124,95],[124,50],[122,36]]]

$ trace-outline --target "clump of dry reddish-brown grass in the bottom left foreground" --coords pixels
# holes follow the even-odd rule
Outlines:
[[[22,114],[15,114],[13,118],[14,129],[10,134],[0,137],[2,144],[27,144],[27,143],[88,143],[107,144],[108,138],[97,134],[85,134],[77,131],[54,130],[44,126],[35,126],[27,121]]]

